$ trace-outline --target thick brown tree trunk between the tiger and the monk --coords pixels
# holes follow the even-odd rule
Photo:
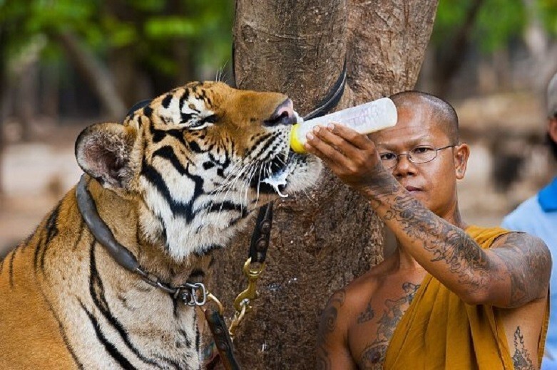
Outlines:
[[[417,80],[436,0],[236,1],[240,88],[286,93],[301,114],[334,84],[347,56],[339,109],[407,90]],[[362,227],[363,226],[363,227]],[[244,289],[250,231],[216,258],[215,295]],[[325,171],[309,194],[275,202],[260,296],[235,339],[245,369],[310,369],[321,310],[334,290],[378,263],[382,223],[367,201]]]

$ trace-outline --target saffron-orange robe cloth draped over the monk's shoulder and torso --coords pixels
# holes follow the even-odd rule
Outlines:
[[[466,233],[486,249],[509,231],[469,226]],[[499,316],[492,306],[466,305],[428,274],[394,331],[384,369],[513,370]],[[546,311],[538,364],[543,356],[547,322]]]

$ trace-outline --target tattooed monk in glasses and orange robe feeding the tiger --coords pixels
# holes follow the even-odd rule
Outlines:
[[[449,103],[392,96],[397,125],[367,137],[317,127],[306,149],[363,194],[397,248],[334,292],[318,369],[538,369],[551,255],[539,238],[467,224],[456,180],[470,149]]]

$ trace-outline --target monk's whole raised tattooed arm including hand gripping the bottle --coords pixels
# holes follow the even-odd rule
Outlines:
[[[408,253],[464,302],[519,307],[547,294],[551,256],[541,240],[511,233],[483,250],[409,194],[384,169],[370,139],[339,125],[316,136],[308,151],[367,196]]]

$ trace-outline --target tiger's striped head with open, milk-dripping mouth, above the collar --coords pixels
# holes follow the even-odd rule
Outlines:
[[[279,93],[189,83],[87,127],[76,159],[106,189],[137,199],[140,231],[176,260],[228,243],[258,206],[317,180],[321,164],[290,150],[299,121]]]

